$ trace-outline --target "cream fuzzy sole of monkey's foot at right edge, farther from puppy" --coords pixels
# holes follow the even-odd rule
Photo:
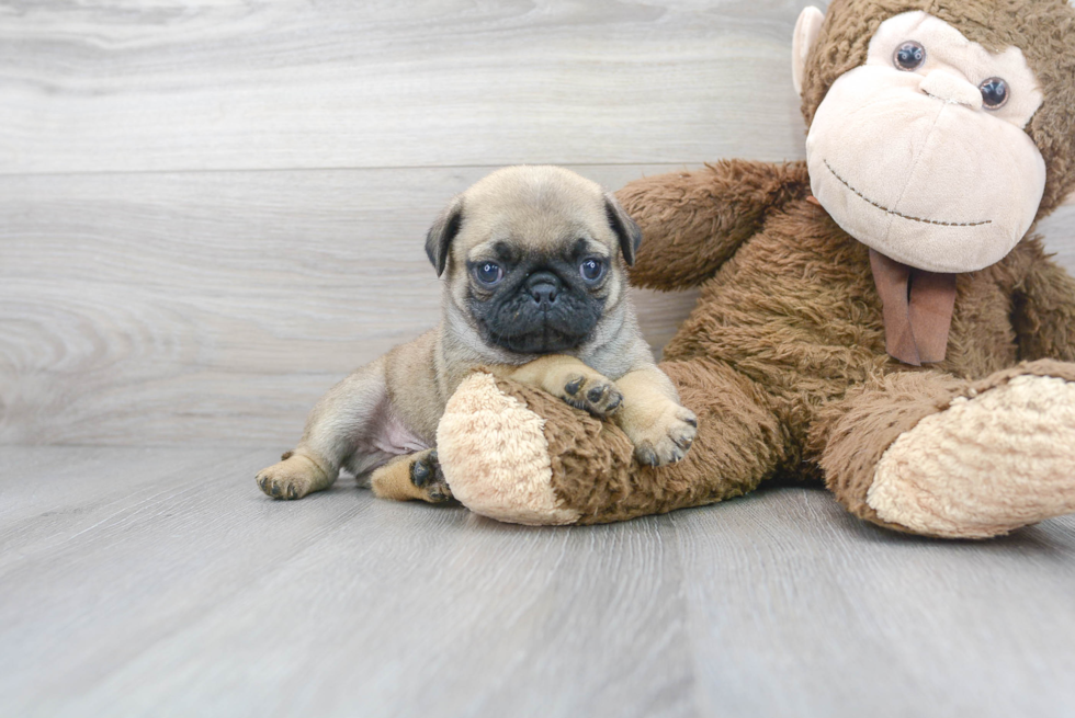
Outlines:
[[[986,538],[1075,511],[1075,383],[1018,376],[903,433],[867,503],[886,522]]]

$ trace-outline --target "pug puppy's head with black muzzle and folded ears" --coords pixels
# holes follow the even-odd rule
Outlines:
[[[623,265],[640,241],[596,183],[555,167],[511,167],[456,197],[426,249],[486,344],[547,354],[592,337],[623,297]]]

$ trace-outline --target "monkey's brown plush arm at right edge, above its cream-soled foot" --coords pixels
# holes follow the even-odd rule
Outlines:
[[[1016,287],[1012,312],[1019,358],[1075,362],[1075,278],[1038,240],[1030,249],[1033,261]]]

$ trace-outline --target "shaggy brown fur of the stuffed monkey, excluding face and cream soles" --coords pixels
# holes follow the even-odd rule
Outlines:
[[[806,65],[807,123],[878,25],[910,10],[987,47],[1025,48],[1045,92],[1028,126],[1046,162],[1044,216],[1075,186],[1075,11],[1063,0],[834,0]],[[701,286],[661,364],[699,433],[679,464],[644,468],[611,424],[501,383],[547,420],[554,492],[581,523],[712,503],[782,476],[822,478],[856,515],[912,531],[868,503],[897,437],[1017,376],[1075,380],[1075,281],[1033,228],[1000,262],[958,276],[947,355],[923,368],[886,354],[869,250],[808,202],[805,163],[725,161],[618,194],[645,236],[633,281]]]

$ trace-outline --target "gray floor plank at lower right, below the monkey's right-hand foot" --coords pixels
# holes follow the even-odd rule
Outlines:
[[[1075,517],[937,542],[754,498],[672,516],[703,715],[1075,713]]]

